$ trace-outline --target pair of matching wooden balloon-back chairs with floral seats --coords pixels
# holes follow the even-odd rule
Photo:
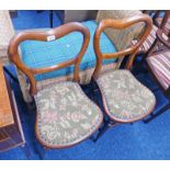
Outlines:
[[[144,22],[146,26],[135,45],[110,54],[101,50],[100,38],[106,29],[123,30],[140,22]],[[83,55],[90,41],[89,30],[84,25],[72,22],[44,32],[26,31],[16,34],[11,39],[9,56],[18,69],[29,78],[31,84],[30,92],[36,103],[35,133],[44,147],[70,147],[87,139],[97,131],[99,131],[98,138],[107,127],[120,123],[132,123],[143,120],[154,110],[156,103],[155,95],[137,81],[129,71],[135,55],[149,34],[151,26],[152,23],[149,16],[136,15],[123,20],[102,20],[95,30],[92,42],[97,64],[90,87],[93,87],[93,83],[98,86],[106,118],[103,116],[100,106],[84,94],[79,84],[80,64],[83,60]],[[19,46],[25,41],[50,43],[65,38],[65,35],[69,36],[72,32],[79,32],[83,36],[82,46],[75,58],[50,67],[33,68],[25,65],[20,57]],[[67,41],[65,43],[67,45]],[[77,36],[75,36],[75,44],[69,49],[77,48],[77,45],[79,44],[77,43]],[[103,60],[118,59],[123,56],[129,57],[126,69],[110,70],[101,73]],[[39,57],[43,59],[42,56]],[[60,81],[37,90],[37,75],[54,70],[60,71],[73,65],[75,67],[71,67],[73,69],[73,81]]]

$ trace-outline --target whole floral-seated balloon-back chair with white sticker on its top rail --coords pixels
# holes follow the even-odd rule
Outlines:
[[[43,68],[30,68],[22,61],[18,50],[22,42],[27,39],[54,41],[72,32],[80,32],[83,35],[82,46],[75,58]],[[21,32],[11,39],[9,56],[30,80],[30,92],[36,104],[35,134],[38,141],[46,148],[71,147],[90,137],[103,121],[99,106],[83,93],[79,86],[79,66],[87,50],[89,38],[88,29],[80,23],[72,22],[38,33]],[[71,65],[75,65],[73,81],[61,81],[41,90],[37,89],[36,75],[59,70]]]

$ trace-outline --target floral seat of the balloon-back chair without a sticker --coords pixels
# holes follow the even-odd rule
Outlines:
[[[106,114],[116,122],[138,121],[148,115],[156,99],[128,70],[101,75],[97,83],[101,90]]]

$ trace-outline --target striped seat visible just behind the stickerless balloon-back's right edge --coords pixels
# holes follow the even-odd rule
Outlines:
[[[157,32],[158,27],[157,26],[152,26],[152,30],[150,32],[150,34],[147,36],[146,41],[143,43],[143,45],[139,47],[138,53],[146,53],[149,50],[149,48],[151,47],[152,43],[156,39],[156,32]],[[132,42],[132,44],[136,44],[137,39],[134,39]]]

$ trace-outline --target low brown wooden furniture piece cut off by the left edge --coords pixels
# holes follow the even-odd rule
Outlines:
[[[18,106],[0,63],[0,151],[25,144]]]

